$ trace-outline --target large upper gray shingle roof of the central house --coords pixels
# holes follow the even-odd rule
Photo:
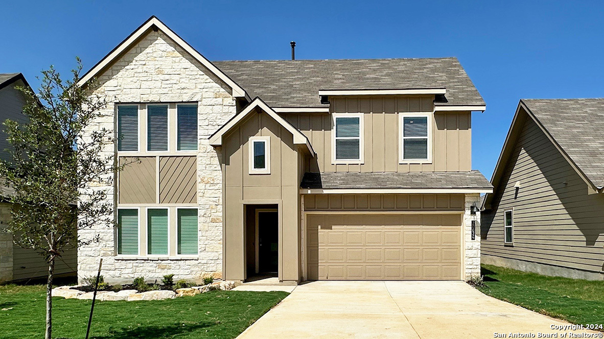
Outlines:
[[[318,90],[446,89],[437,105],[484,105],[457,58],[214,61],[272,107],[321,107]],[[442,101],[442,102],[441,102]]]

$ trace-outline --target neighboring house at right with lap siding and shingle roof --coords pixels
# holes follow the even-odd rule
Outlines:
[[[602,280],[604,99],[523,99],[484,199],[482,262]]]

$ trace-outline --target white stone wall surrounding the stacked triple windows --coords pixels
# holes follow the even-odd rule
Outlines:
[[[120,102],[198,102],[198,207],[199,255],[149,260],[118,258],[115,230],[111,224],[95,225],[79,232],[82,239],[98,235],[98,241],[82,246],[78,253],[79,277],[94,275],[103,258],[106,281],[131,281],[135,276],[201,279],[205,273],[222,274],[222,171],[219,153],[207,138],[236,113],[231,89],[205,69],[161,31],[151,31],[112,66],[98,76],[96,94],[111,101],[103,117],[91,126],[114,131],[115,104]],[[114,146],[104,149],[114,154]],[[105,190],[115,202],[114,186],[91,183],[89,190]]]

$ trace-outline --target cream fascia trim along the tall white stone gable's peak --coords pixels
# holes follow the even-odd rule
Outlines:
[[[206,67],[210,72],[214,73],[220,80],[225,82],[231,89],[233,90],[232,95],[236,98],[246,98],[249,100],[248,94],[245,90],[236,84],[233,79],[229,78],[222,70],[218,69],[218,67],[214,66],[210,60],[206,59],[203,55],[201,55],[198,51],[196,51],[191,45],[189,45],[185,40],[182,40],[178,34],[174,33],[174,31],[170,30],[168,26],[166,26],[163,22],[161,22],[156,17],[151,17],[147,22],[143,23],[136,31],[130,34],[129,37],[126,38],[120,45],[118,45],[113,51],[111,51],[108,55],[106,55],[103,60],[99,61],[91,70],[89,70],[80,81],[77,82],[77,86],[82,87],[86,82],[90,79],[94,78],[105,67],[111,64],[117,57],[119,57],[124,51],[130,48],[133,43],[135,43],[140,37],[142,37],[148,30],[150,30],[153,26],[156,26],[158,30],[162,31],[166,36],[172,39],[176,45],[184,49],[188,54],[193,56],[193,58],[199,63],[201,63],[204,67]]]

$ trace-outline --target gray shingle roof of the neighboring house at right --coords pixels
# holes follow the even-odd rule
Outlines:
[[[522,99],[568,157],[597,187],[604,186],[604,98]]]

